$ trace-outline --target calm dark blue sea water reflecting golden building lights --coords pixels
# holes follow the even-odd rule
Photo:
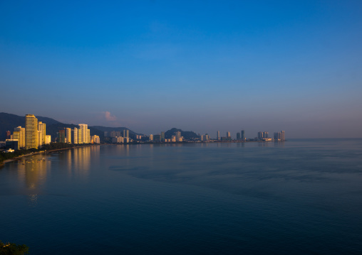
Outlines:
[[[31,254],[362,254],[362,139],[27,160],[0,168],[0,239]]]

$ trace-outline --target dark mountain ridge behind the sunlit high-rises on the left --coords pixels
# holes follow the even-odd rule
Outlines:
[[[79,126],[76,124],[64,124],[60,121],[56,121],[55,119],[51,119],[48,117],[43,116],[36,116],[38,121],[42,121],[46,124],[46,134],[51,135],[51,139],[56,137],[56,133],[59,129],[70,128],[74,129],[75,127],[78,128]],[[6,131],[11,131],[11,134],[14,132],[14,128],[17,126],[25,127],[25,116],[19,116],[16,114],[8,114],[5,112],[0,112],[0,141],[5,141],[6,139]],[[128,129],[126,127],[118,127],[112,128],[107,126],[88,126],[90,129],[90,135],[97,135],[100,138],[104,137],[104,131],[123,131],[124,129]],[[130,130],[130,129],[128,129]],[[135,138],[134,131],[130,130],[130,137]]]

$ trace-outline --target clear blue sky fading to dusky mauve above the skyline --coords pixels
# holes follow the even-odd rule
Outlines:
[[[362,1],[0,1],[0,112],[362,137]]]

